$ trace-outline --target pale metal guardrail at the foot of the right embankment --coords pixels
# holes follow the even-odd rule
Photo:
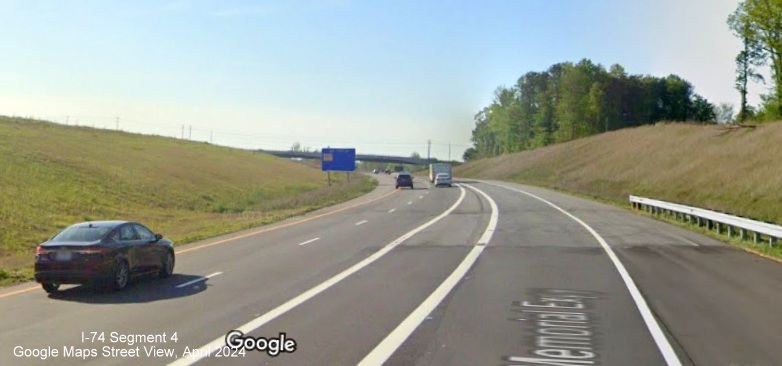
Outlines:
[[[746,239],[747,234],[752,233],[755,243],[762,240],[761,236],[765,236],[769,245],[773,246],[782,238],[782,226],[745,217],[638,196],[630,196],[630,204],[635,209],[652,214],[669,214],[676,219],[681,217],[698,226],[705,224],[706,228],[714,228],[719,233],[722,233],[725,227],[728,236],[733,236],[734,231],[738,230],[739,237]]]

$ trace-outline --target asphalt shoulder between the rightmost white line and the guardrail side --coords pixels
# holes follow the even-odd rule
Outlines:
[[[683,364],[780,364],[782,313],[778,309],[782,304],[782,265],[779,263],[591,200],[536,187],[489,183],[547,199],[592,226],[626,266]],[[492,195],[516,194],[517,207],[524,212],[522,207],[536,205],[537,200],[517,191],[496,186],[486,190]],[[533,217],[541,214],[524,217],[534,220]],[[555,230],[544,222],[539,226]],[[590,255],[604,256],[600,251],[581,250],[584,260]],[[633,343],[633,352],[637,349]]]

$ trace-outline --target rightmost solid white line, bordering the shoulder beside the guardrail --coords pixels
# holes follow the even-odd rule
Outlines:
[[[538,197],[532,193],[525,192],[523,190],[516,189],[513,187],[507,187],[491,182],[486,182],[486,183],[496,187],[516,191],[525,194],[527,196],[530,196],[532,198],[535,198],[557,209],[559,212],[562,212],[566,216],[570,217],[571,219],[579,223],[585,229],[587,229],[587,231],[589,231],[589,233],[592,234],[592,236],[597,240],[597,242],[600,243],[600,246],[603,247],[603,250],[608,255],[608,258],[611,259],[611,262],[614,264],[614,267],[616,267],[616,270],[619,272],[619,275],[622,277],[622,280],[624,281],[627,290],[630,292],[630,296],[633,298],[633,301],[635,302],[635,306],[638,308],[638,312],[641,313],[641,317],[643,318],[644,323],[646,324],[646,328],[649,329],[649,333],[651,333],[652,338],[654,338],[654,343],[657,345],[657,348],[660,350],[660,353],[665,359],[665,362],[668,364],[668,366],[681,366],[682,363],[679,360],[679,356],[676,355],[676,351],[673,350],[671,343],[668,342],[668,337],[665,336],[665,333],[663,333],[660,324],[657,322],[657,319],[654,318],[654,314],[652,314],[652,310],[649,308],[649,305],[646,303],[646,299],[644,299],[643,295],[641,295],[641,291],[638,290],[638,287],[635,285],[635,281],[633,281],[632,277],[630,277],[630,273],[627,272],[627,269],[622,264],[622,262],[619,261],[619,257],[616,256],[614,250],[611,249],[608,243],[603,239],[602,236],[600,236],[600,234],[597,233],[597,231],[592,229],[591,226],[589,226],[587,223],[585,223],[575,215],[565,211],[564,209],[547,201],[544,198]]]

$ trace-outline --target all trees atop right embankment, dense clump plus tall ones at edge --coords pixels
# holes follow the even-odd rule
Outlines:
[[[743,42],[736,56],[739,112],[715,106],[677,75],[628,75],[621,65],[606,70],[589,59],[528,72],[511,87],[499,87],[475,116],[473,147],[465,161],[486,158],[658,121],[699,123],[782,119],[782,0],[745,0],[727,19]],[[761,104],[747,102],[750,82],[766,83]]]

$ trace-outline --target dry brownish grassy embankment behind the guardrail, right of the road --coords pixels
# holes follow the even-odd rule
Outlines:
[[[554,188],[624,207],[633,194],[782,224],[780,142],[782,123],[731,130],[658,124],[473,161],[454,174]],[[782,258],[779,246],[730,242]]]

